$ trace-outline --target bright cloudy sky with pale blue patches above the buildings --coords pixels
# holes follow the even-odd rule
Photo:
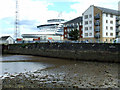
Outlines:
[[[90,5],[118,10],[118,2],[119,0],[18,0],[20,35],[38,31],[37,26],[45,24],[48,19],[63,18],[68,21],[82,16]],[[14,38],[16,0],[1,0],[0,11],[0,36],[10,35]]]

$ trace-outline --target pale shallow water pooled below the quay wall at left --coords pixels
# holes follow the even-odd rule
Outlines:
[[[52,60],[52,58],[29,55],[3,55],[0,59],[0,71],[2,71],[0,75],[4,75],[6,72],[10,74],[24,73],[54,66],[52,63],[47,63],[50,59]]]

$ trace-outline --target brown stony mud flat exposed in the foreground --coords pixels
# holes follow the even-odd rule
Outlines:
[[[57,62],[56,62],[57,63]],[[61,62],[63,63],[63,62]],[[72,62],[1,76],[3,88],[120,88],[118,63]]]

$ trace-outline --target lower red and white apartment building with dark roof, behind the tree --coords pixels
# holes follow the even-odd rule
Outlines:
[[[69,36],[69,32],[71,30],[77,29],[79,30],[79,40],[81,41],[83,36],[82,36],[82,20],[83,18],[77,17],[75,19],[72,19],[70,21],[67,21],[64,23],[64,40],[69,40],[71,37]]]

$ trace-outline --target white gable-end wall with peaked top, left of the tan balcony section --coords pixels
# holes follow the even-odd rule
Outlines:
[[[83,13],[83,38],[91,37],[94,37],[94,6]]]

